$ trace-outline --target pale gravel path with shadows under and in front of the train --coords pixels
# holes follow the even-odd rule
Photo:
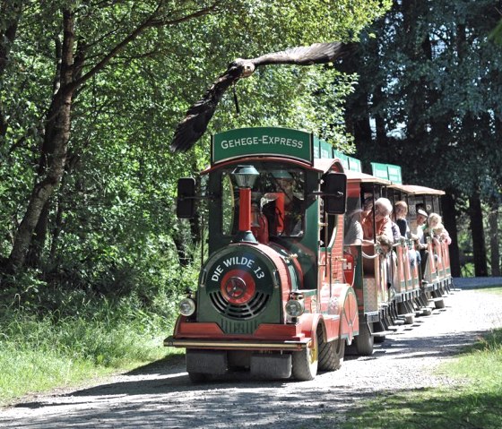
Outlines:
[[[374,356],[346,356],[312,382],[257,382],[239,375],[192,385],[181,358],[84,390],[39,395],[0,411],[3,428],[331,428],[360,399],[385,391],[453,385],[432,370],[483,331],[502,327],[502,296],[456,290],[446,308],[401,326]],[[301,408],[291,412],[291,408]]]

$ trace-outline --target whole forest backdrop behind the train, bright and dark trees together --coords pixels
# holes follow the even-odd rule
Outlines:
[[[454,276],[500,275],[502,49],[489,34],[501,11],[488,0],[0,0],[0,340],[30,345],[44,323],[83,321],[49,342],[75,354],[80,335],[79,358],[115,365],[124,341],[169,333],[200,262],[201,219],[174,215],[177,178],[208,165],[211,133],[240,126],[305,129],[364,167],[397,164],[404,183],[444,189]],[[193,150],[169,151],[229,61],[333,40],[358,49],[260,69],[238,83],[240,115],[224,98]]]

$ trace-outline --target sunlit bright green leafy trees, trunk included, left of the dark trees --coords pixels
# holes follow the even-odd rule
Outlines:
[[[177,228],[169,211],[174,179],[207,159],[207,141],[171,157],[169,136],[221,64],[351,39],[383,11],[381,3],[24,2],[10,13],[17,31],[7,38],[13,61],[0,90],[0,175],[15,177],[0,189],[3,219],[15,225],[1,224],[9,235],[0,247],[9,254],[4,267],[16,272],[28,263],[47,274],[62,261],[66,268],[88,263],[89,276],[103,261],[117,267],[123,258],[134,266],[140,255],[154,253],[149,246],[163,248],[160,237]],[[230,116],[231,103],[223,100],[212,130],[258,122],[322,129],[325,118],[316,116],[320,103],[312,95],[322,76],[321,70],[259,73],[239,84],[241,116]],[[336,100],[333,87],[327,96]]]

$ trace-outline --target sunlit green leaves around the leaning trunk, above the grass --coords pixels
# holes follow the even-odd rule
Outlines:
[[[186,108],[231,59],[352,39],[390,5],[362,0],[215,3],[215,10],[177,21],[212,2],[169,2],[157,11],[155,25],[131,37],[158,2],[52,1],[43,8],[26,2],[0,86],[0,113],[7,119],[6,133],[0,135],[0,261],[12,250],[39,169],[45,115],[55,90],[55,53],[63,40],[63,8],[74,12],[74,55],[83,58],[75,78],[91,78],[74,96],[65,176],[50,200],[41,260],[35,270],[16,272],[12,279],[20,295],[34,290],[31,281],[49,290],[77,288],[109,296],[156,296],[162,287],[180,284],[175,244],[186,237],[186,226],[173,216],[176,181],[207,166],[212,132],[281,124],[321,133],[351,150],[342,103],[354,77],[330,66],[283,66],[239,82],[242,114],[235,116],[231,98],[223,99],[195,150],[169,152],[170,136]],[[101,67],[100,61],[129,37]]]

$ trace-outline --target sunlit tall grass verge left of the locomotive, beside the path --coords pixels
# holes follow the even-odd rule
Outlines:
[[[102,302],[65,317],[3,309],[0,327],[0,404],[6,405],[166,356],[162,339],[172,321],[131,302]]]

